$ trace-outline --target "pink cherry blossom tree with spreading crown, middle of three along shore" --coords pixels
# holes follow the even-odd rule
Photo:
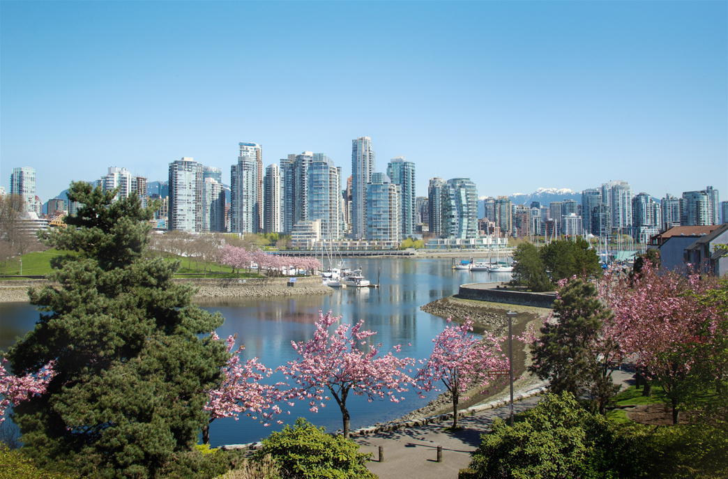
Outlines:
[[[308,342],[291,341],[293,349],[300,357],[289,361],[287,366],[280,366],[287,379],[293,380],[293,387],[288,390],[288,400],[309,400],[312,412],[318,412],[319,405],[325,407],[324,400],[331,393],[341,409],[344,421],[344,438],[349,438],[349,410],[347,399],[349,393],[365,396],[371,402],[375,399],[389,398],[393,403],[403,400],[395,392],[407,391],[412,379],[403,371],[414,363],[409,357],[398,358],[388,352],[377,356],[381,344],[369,345],[367,352],[360,349],[375,331],[363,330],[363,320],[355,325],[341,323],[333,333],[328,328],[341,317],[332,316],[331,312],[319,312],[314,337]],[[393,349],[400,352],[400,346]],[[291,403],[292,405],[292,403]]]

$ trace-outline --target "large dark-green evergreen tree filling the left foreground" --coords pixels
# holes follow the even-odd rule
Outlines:
[[[15,408],[26,454],[100,477],[159,477],[207,424],[205,391],[229,356],[210,332],[222,324],[176,285],[177,263],[145,259],[154,210],[114,201],[83,182],[68,228],[44,242],[75,255],[55,261],[55,285],[31,290],[41,316],[9,350],[16,374],[54,361],[47,390]]]

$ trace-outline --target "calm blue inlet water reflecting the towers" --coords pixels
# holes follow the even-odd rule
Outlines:
[[[276,368],[296,359],[290,341],[307,341],[314,333],[314,322],[319,310],[331,311],[343,316],[346,322],[364,320],[366,329],[375,330],[371,342],[381,343],[386,354],[395,344],[402,344],[400,356],[423,359],[432,352],[432,339],[440,333],[446,321],[419,310],[420,306],[457,293],[459,285],[466,282],[508,280],[510,274],[491,275],[488,272],[454,271],[450,259],[352,259],[347,266],[360,266],[368,280],[376,283],[381,271],[380,288],[344,288],[333,290],[328,296],[297,298],[250,298],[236,300],[199,301],[203,309],[220,311],[225,323],[218,328],[218,335],[227,337],[237,334],[238,344],[245,344],[245,359],[258,356],[269,368]],[[6,350],[31,330],[38,312],[25,303],[0,304],[0,349]],[[408,344],[411,344],[409,346]],[[281,377],[272,376],[277,381]],[[351,427],[363,427],[377,421],[387,421],[420,408],[435,397],[432,392],[426,399],[419,399],[411,391],[403,394],[404,401],[374,401],[350,396],[347,407],[351,413]],[[282,406],[281,406],[282,407]],[[327,430],[341,428],[341,411],[336,401],[329,401],[318,413],[311,413],[307,402],[298,402],[280,418],[293,423],[304,416]],[[210,443],[250,443],[269,435],[282,426],[264,427],[246,416],[240,420],[216,419],[210,425]]]

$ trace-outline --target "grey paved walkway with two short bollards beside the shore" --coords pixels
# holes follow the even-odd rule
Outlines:
[[[623,371],[612,373],[615,384],[627,384],[632,376],[633,373]],[[515,413],[533,408],[542,398],[534,396],[514,403]],[[480,435],[490,430],[496,417],[505,421],[508,415],[505,405],[460,418],[459,426],[463,429],[456,432],[444,430],[452,424],[452,421],[446,421],[378,432],[354,441],[360,444],[360,452],[373,454],[373,461],[367,467],[379,479],[456,479],[458,471],[470,463],[470,453],[480,445]],[[379,446],[384,446],[384,462],[377,462]],[[438,446],[443,446],[443,462],[436,461]]]

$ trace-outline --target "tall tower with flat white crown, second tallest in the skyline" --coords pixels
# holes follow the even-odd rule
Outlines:
[[[262,153],[257,143],[238,143],[237,165],[230,168],[230,228],[233,233],[258,233],[261,230],[260,175]]]

